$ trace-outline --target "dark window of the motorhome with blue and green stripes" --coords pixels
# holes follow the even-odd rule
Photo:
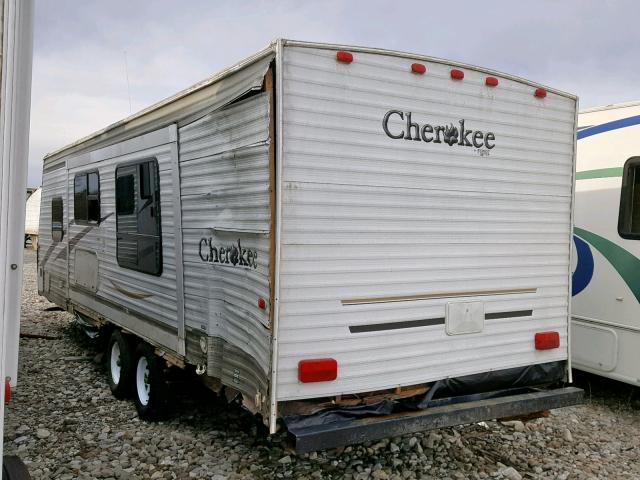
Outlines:
[[[618,234],[640,240],[640,157],[632,157],[624,164]]]

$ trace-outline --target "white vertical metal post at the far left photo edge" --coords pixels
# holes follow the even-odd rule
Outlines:
[[[0,380],[15,385],[29,151],[33,0],[4,0],[0,88]],[[0,384],[4,387],[4,382]],[[4,388],[0,389],[0,432]],[[0,435],[0,451],[2,449]]]

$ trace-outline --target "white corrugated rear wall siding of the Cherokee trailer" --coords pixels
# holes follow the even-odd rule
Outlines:
[[[575,101],[530,86],[407,59],[284,49],[284,159],[278,399],[392,388],[567,358],[567,306]],[[392,140],[389,110],[421,124],[495,133],[495,148]],[[394,132],[403,122],[390,122]],[[479,300],[482,333],[444,325],[353,334],[349,326],[439,318],[433,299],[365,305],[341,300],[533,288]],[[561,332],[561,348],[533,348]],[[338,360],[334,382],[300,384],[301,359]]]

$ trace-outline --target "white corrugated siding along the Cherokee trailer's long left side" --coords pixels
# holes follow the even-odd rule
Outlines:
[[[179,348],[179,342],[173,342],[170,334],[178,326],[180,318],[180,298],[177,298],[180,289],[180,269],[176,269],[176,241],[182,239],[175,238],[176,225],[181,225],[178,211],[179,202],[176,201],[180,197],[179,192],[175,189],[179,188],[175,185],[178,177],[172,176],[177,173],[178,169],[172,169],[176,166],[178,145],[177,131],[174,129],[176,125],[183,126],[181,135],[185,140],[183,146],[184,164],[180,166],[185,172],[184,190],[186,201],[186,223],[187,228],[192,228],[191,232],[199,232],[196,235],[198,241],[199,235],[203,230],[209,234],[209,229],[231,227],[238,231],[245,232],[250,238],[243,241],[246,247],[255,248],[259,253],[257,272],[247,274],[249,277],[255,277],[248,283],[255,283],[255,292],[259,292],[259,296],[268,298],[268,258],[269,248],[268,242],[263,237],[267,236],[270,217],[265,214],[265,205],[268,210],[268,134],[264,135],[268,128],[268,106],[267,97],[260,95],[259,92],[263,87],[264,75],[269,68],[273,58],[271,49],[267,49],[249,59],[238,63],[237,65],[211,77],[210,79],[195,85],[184,92],[181,92],[159,104],[150,107],[140,113],[137,113],[128,119],[118,122],[107,127],[100,132],[96,132],[90,137],[80,140],[69,147],[48,155],[44,160],[44,191],[45,198],[50,199],[56,190],[62,188],[65,201],[65,212],[70,209],[73,212],[73,198],[67,199],[67,185],[69,190],[73,192],[73,177],[75,173],[80,171],[99,170],[100,173],[100,189],[101,189],[101,215],[107,217],[99,226],[98,225],[75,225],[69,227],[69,231],[65,232],[65,247],[55,247],[60,250],[58,259],[61,260],[57,265],[47,270],[47,275],[56,274],[55,269],[59,269],[60,278],[64,283],[60,284],[60,292],[56,301],[65,304],[69,293],[66,288],[66,241],[72,237],[74,241],[73,249],[85,249],[95,252],[98,257],[99,265],[99,286],[96,293],[82,289],[76,285],[75,275],[75,255],[71,254],[69,259],[69,270],[71,284],[74,287],[71,296],[79,303],[91,303],[90,306],[94,312],[100,310],[101,305],[110,312],[113,317],[121,315],[118,318],[110,318],[115,323],[120,320],[125,321],[127,328],[133,329],[136,333],[149,339],[150,341],[162,344],[165,347],[176,349]],[[256,95],[246,101],[236,102],[234,106],[225,108],[231,102],[238,98],[245,98],[255,92]],[[252,111],[248,111],[248,110]],[[217,113],[208,115],[211,111],[216,110]],[[208,116],[206,116],[208,115]],[[229,118],[225,116],[230,115]],[[224,117],[224,118],[223,118]],[[249,123],[243,125],[235,125],[230,121],[237,121],[239,117],[247,119]],[[265,120],[266,119],[266,120]],[[122,129],[126,125],[125,129]],[[221,128],[218,128],[220,126]],[[163,128],[161,128],[163,127]],[[239,128],[236,128],[239,127]],[[246,129],[244,127],[247,127]],[[226,146],[220,145],[224,133],[227,129],[228,135],[224,137]],[[155,145],[155,147],[154,147]],[[160,146],[158,146],[160,145]],[[117,164],[127,163],[133,160],[152,158],[158,159],[160,170],[160,191],[161,191],[161,214],[162,214],[162,245],[163,245],[163,271],[160,277],[136,272],[121,268],[116,259],[116,219],[115,219],[115,169]],[[218,162],[218,160],[220,160]],[[263,161],[264,160],[264,161]],[[191,168],[188,165],[193,166]],[[224,165],[222,171],[218,171],[218,165]],[[240,168],[237,168],[241,165]],[[70,170],[67,169],[69,166]],[[58,170],[58,167],[60,169]],[[264,168],[264,172],[255,169]],[[228,169],[227,173],[224,170]],[[244,169],[244,170],[243,170]],[[51,173],[50,173],[51,172]],[[193,173],[191,177],[189,175]],[[49,181],[49,177],[55,176]],[[209,184],[206,177],[214,178],[213,183]],[[203,178],[205,181],[203,181]],[[245,179],[253,178],[247,182],[246,188],[252,191],[252,197],[256,200],[241,204],[245,198]],[[257,187],[251,185],[259,184],[266,179],[267,185]],[[225,182],[227,182],[225,184]],[[229,183],[230,182],[230,183]],[[222,197],[216,197],[217,192],[212,193],[212,188],[230,188]],[[202,191],[205,188],[205,191]],[[218,188],[218,190],[220,190]],[[266,193],[265,193],[266,192]],[[204,202],[198,197],[202,194],[208,198]],[[202,196],[200,195],[200,196]],[[73,197],[73,194],[70,194]],[[189,199],[194,198],[194,202]],[[218,200],[223,198],[227,201],[227,205],[218,208]],[[264,204],[261,204],[264,203]],[[67,205],[70,203],[70,205]],[[252,210],[255,210],[253,212]],[[205,212],[209,214],[205,214]],[[233,213],[236,212],[236,213]],[[50,206],[42,212],[42,218],[46,215],[50,216]],[[180,212],[181,213],[181,212]],[[111,215],[110,215],[111,214]],[[244,218],[242,222],[226,222],[224,219],[229,214],[236,216],[238,219]],[[213,222],[213,225],[212,223]],[[65,225],[67,223],[65,213]],[[267,227],[264,227],[267,225]],[[225,230],[226,231],[226,230]],[[233,230],[231,230],[233,231]],[[48,222],[48,231],[50,239],[50,219]],[[187,242],[191,239],[189,231],[186,232]],[[224,232],[223,232],[224,234]],[[237,240],[237,232],[233,233],[233,237]],[[194,237],[195,238],[195,237]],[[218,237],[216,237],[218,238]],[[47,239],[48,240],[48,239]],[[224,239],[226,241],[226,238]],[[48,247],[50,241],[45,241],[42,247]],[[197,242],[196,242],[197,245]],[[187,244],[187,254],[192,254]],[[178,249],[179,250],[179,249]],[[64,254],[64,258],[61,255]],[[196,251],[197,256],[197,251]],[[91,258],[91,256],[85,256]],[[187,263],[189,259],[187,259]],[[210,276],[211,270],[205,269],[204,277]],[[196,276],[202,272],[196,272]],[[64,274],[64,275],[63,275]],[[189,280],[194,278],[190,272],[187,272],[187,280],[191,285],[198,285],[198,281]],[[49,275],[51,276],[51,275]],[[234,288],[239,288],[236,282],[242,283],[242,275],[232,273],[228,275],[228,281],[224,282],[223,289],[220,290],[222,298],[227,302],[230,298],[238,297],[237,293],[232,293]],[[86,277],[86,275],[85,275]],[[252,278],[253,278],[252,277]],[[246,282],[245,282],[246,283]],[[56,284],[58,285],[58,284]],[[216,281],[212,285],[217,286]],[[200,290],[193,290],[189,295],[193,298],[198,294],[202,294]],[[132,296],[123,295],[121,290],[127,290]],[[209,294],[207,289],[204,290],[205,295]],[[105,303],[98,304],[94,302],[94,297],[100,297]],[[144,298],[134,298],[144,297]],[[247,304],[251,303],[248,308],[248,316],[252,320],[248,323],[248,334],[245,334],[242,340],[247,350],[259,351],[259,356],[268,358],[265,349],[268,350],[269,342],[266,340],[265,333],[268,332],[265,325],[268,325],[268,313],[256,311],[257,298],[246,299]],[[216,297],[212,302],[215,303]],[[115,310],[112,308],[115,306]],[[246,307],[246,306],[245,306]],[[242,332],[243,328],[241,318],[247,312],[240,311],[233,302],[228,302],[225,307],[230,312],[234,312],[238,318],[239,327],[234,330],[235,333]],[[208,315],[201,315],[201,303],[192,303],[187,308],[189,312],[198,312],[190,316],[190,325],[195,326],[198,330],[204,326],[205,332],[218,331],[218,322],[216,318]],[[104,312],[102,312],[104,313]],[[107,313],[104,313],[107,315]],[[129,315],[132,314],[132,315]],[[137,314],[137,316],[133,316]],[[131,318],[129,318],[131,317]],[[147,320],[150,320],[147,321]],[[164,326],[160,326],[155,322],[160,322]],[[210,326],[211,324],[211,326]],[[257,325],[262,325],[256,328]],[[138,328],[139,327],[139,328]],[[193,350],[193,330],[187,329],[187,344]],[[233,330],[233,329],[232,329]],[[178,329],[179,331],[179,329]],[[156,334],[154,334],[154,332]],[[245,332],[246,333],[246,332]],[[255,334],[254,334],[255,333]],[[236,335],[237,336],[237,335]],[[241,335],[240,335],[241,336]],[[255,338],[259,340],[255,340]],[[242,342],[239,342],[242,343]],[[199,344],[199,341],[198,341]],[[177,347],[176,347],[177,345]],[[258,348],[259,347],[259,348]],[[198,347],[199,348],[199,347]],[[258,355],[258,354],[256,354]],[[191,352],[193,357],[193,352]],[[253,367],[252,367],[253,368]],[[264,368],[268,368],[264,366]],[[257,383],[257,382],[254,382]]]

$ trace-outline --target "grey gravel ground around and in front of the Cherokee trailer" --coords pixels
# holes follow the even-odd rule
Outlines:
[[[138,420],[111,396],[98,349],[37,294],[25,251],[19,387],[6,410],[5,453],[34,479],[640,478],[640,392],[581,375],[586,404],[522,422],[447,428],[296,457],[284,437],[187,385],[171,420]]]

